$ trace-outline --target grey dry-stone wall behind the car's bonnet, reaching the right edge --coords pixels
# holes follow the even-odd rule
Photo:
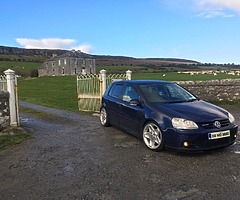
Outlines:
[[[239,100],[240,79],[179,81],[179,85],[204,100]]]

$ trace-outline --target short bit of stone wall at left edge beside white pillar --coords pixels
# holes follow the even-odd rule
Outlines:
[[[0,131],[9,126],[9,93],[0,92]]]

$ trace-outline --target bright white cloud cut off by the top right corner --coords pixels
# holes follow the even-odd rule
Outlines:
[[[195,0],[201,6],[230,9],[240,12],[240,0]]]

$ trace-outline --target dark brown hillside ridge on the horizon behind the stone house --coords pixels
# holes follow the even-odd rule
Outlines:
[[[24,49],[0,46],[0,61],[27,61],[42,63],[55,55],[68,52],[61,49]],[[133,58],[126,56],[91,55],[97,66],[146,66],[160,67],[168,65],[196,65],[197,61],[172,58]]]

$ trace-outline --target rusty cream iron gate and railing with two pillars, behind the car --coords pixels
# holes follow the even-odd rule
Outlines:
[[[100,74],[78,75],[78,109],[98,112],[106,87],[114,80],[131,80],[131,73],[128,70],[126,74],[109,74],[107,76],[106,71],[101,70]]]

